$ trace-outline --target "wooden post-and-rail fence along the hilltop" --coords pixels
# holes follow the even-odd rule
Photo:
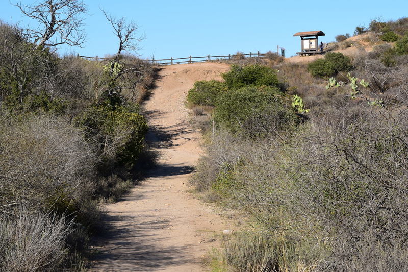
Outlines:
[[[186,57],[186,58],[173,58],[173,57],[171,57],[170,59],[159,59],[159,60],[155,59],[155,58],[152,58],[152,59],[145,59],[145,61],[151,62],[151,64],[168,65],[168,64],[179,64],[179,63],[203,62],[203,61],[211,61],[211,60],[231,60],[234,57],[241,57],[241,56],[244,56],[244,57],[249,56],[250,58],[253,58],[253,57],[258,57],[259,58],[259,57],[265,56],[267,54],[268,53],[259,53],[259,51],[257,51],[256,53],[250,52],[248,54],[236,54],[236,55],[231,55],[231,54],[220,55],[220,56],[207,55],[207,56],[202,56],[202,57],[192,57],[190,55],[190,57]],[[278,53],[273,53],[273,54],[279,55]],[[100,58],[98,56],[96,56],[96,57],[81,56],[80,54],[78,54],[77,56],[80,57],[80,58],[86,58],[86,59],[91,59],[91,60],[93,59],[93,60],[96,60],[96,61],[106,59],[106,58]]]

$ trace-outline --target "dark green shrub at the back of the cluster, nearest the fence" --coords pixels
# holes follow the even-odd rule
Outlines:
[[[279,87],[276,73],[273,69],[262,65],[232,65],[231,70],[222,77],[230,89],[239,89],[246,85]]]

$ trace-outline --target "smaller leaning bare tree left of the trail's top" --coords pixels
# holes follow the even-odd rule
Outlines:
[[[119,47],[115,58],[119,59],[122,51],[132,52],[138,49],[139,42],[144,40],[144,35],[137,37],[139,26],[134,22],[126,22],[124,17],[116,18],[102,10],[106,19],[112,25],[113,33],[119,38]]]

